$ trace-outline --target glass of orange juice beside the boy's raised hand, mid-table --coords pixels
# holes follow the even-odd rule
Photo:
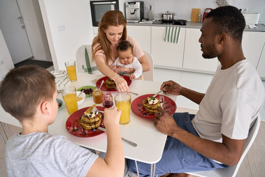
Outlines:
[[[130,122],[131,95],[127,93],[117,94],[114,100],[117,109],[122,111],[120,124],[127,125]]]

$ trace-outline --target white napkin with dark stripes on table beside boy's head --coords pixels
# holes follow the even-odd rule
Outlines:
[[[51,71],[53,76],[55,77],[55,83],[57,86],[57,90],[64,88],[65,86],[68,86],[70,84],[70,80],[67,77],[67,71],[66,70],[53,70]]]

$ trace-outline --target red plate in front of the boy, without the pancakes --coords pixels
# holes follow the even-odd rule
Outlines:
[[[69,133],[71,133],[72,135],[74,136],[77,136],[77,137],[83,137],[83,138],[88,138],[88,137],[94,137],[94,136],[97,136],[97,135],[100,135],[102,133],[104,133],[103,131],[101,131],[100,129],[97,129],[95,132],[93,130],[86,130],[86,129],[83,129],[82,127],[79,127],[78,123],[80,122],[80,116],[82,116],[84,114],[84,112],[90,108],[89,107],[86,107],[86,108],[82,108],[82,109],[79,109],[78,111],[76,111],[75,113],[73,113],[67,120],[66,120],[66,123],[65,123],[65,126],[66,126],[66,129]],[[100,110],[100,111],[104,111],[104,107],[101,107],[101,106],[97,106],[97,109]],[[104,113],[101,113],[103,114],[104,116]],[[79,128],[78,131],[75,131],[73,132],[73,122],[75,120],[78,120],[78,123],[75,122],[75,129]],[[101,124],[100,124],[100,127],[103,127],[105,128],[104,124],[103,124],[103,118],[101,118]],[[85,135],[82,134],[82,130],[84,130],[85,132]]]

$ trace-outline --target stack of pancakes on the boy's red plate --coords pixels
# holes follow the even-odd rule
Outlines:
[[[80,119],[80,126],[86,130],[95,129],[100,126],[102,115],[98,111],[93,112],[93,108],[96,106],[97,105],[94,104],[88,108]]]

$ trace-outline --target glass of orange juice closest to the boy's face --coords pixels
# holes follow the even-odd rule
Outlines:
[[[78,110],[77,106],[77,90],[75,87],[65,87],[61,89],[63,100],[69,114],[73,114]]]

